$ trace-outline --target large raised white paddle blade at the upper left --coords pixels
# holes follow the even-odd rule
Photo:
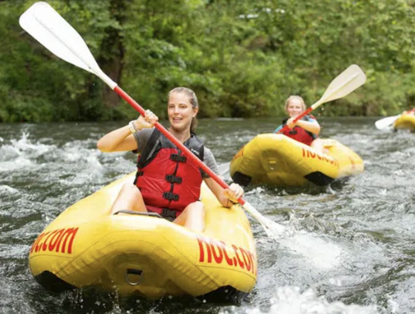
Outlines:
[[[117,85],[102,72],[81,35],[48,3],[34,3],[20,16],[19,24],[59,58],[97,75],[112,89]]]

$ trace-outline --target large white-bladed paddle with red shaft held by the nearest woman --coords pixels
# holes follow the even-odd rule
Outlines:
[[[110,86],[111,89],[117,92],[118,95],[126,100],[127,103],[132,105],[141,115],[145,115],[145,110],[100,69],[81,35],[48,3],[34,3],[21,15],[19,23],[23,29],[25,29],[49,51],[54,53],[59,58],[95,74],[98,78],[101,78],[108,86]],[[155,127],[160,130],[170,141],[172,141],[188,158],[197,163],[203,171],[219,183],[222,188],[229,188],[228,184],[217,176],[199,158],[191,153],[188,148],[177,140],[160,123],[157,122]],[[283,226],[262,216],[243,198],[240,198],[238,202],[262,225],[267,235],[275,237],[281,235],[285,231]]]

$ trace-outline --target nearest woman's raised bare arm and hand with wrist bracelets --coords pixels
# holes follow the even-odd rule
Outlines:
[[[131,123],[137,131],[144,128],[152,128],[159,118],[150,110],[146,110],[145,117],[139,116],[137,120]],[[137,141],[130,126],[125,126],[111,131],[101,137],[97,143],[97,148],[101,152],[124,152],[138,149]]]

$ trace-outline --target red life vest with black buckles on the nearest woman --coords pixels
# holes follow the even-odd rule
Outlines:
[[[194,133],[184,145],[203,160],[203,143]],[[138,156],[134,181],[146,208],[174,219],[186,206],[199,199],[202,180],[200,168],[187,161],[166,136],[154,129]]]

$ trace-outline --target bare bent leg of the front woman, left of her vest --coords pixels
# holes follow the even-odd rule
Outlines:
[[[126,183],[122,186],[117,198],[112,204],[111,214],[118,210],[135,210],[135,211],[147,211],[144,205],[144,201],[141,196],[141,192],[133,183]]]

